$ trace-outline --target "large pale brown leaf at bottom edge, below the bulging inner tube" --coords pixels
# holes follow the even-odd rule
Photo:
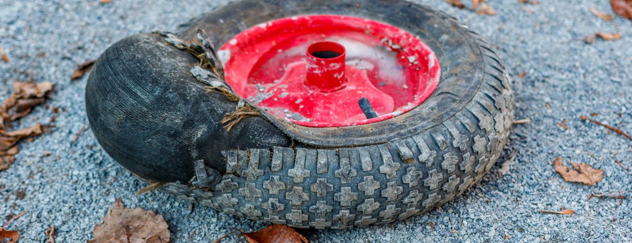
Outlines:
[[[97,242],[169,242],[171,233],[161,215],[142,208],[125,208],[121,198],[107,211],[103,222],[94,227],[94,238],[88,243]]]

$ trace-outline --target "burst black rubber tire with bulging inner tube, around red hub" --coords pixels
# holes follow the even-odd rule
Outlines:
[[[191,76],[198,60],[143,34],[112,45],[86,89],[103,148],[160,190],[216,210],[292,227],[390,223],[463,193],[494,165],[513,121],[507,71],[480,36],[454,18],[406,1],[248,0],[184,25],[225,43],[277,18],[370,18],[417,35],[441,62],[439,86],[421,105],[382,122],[301,127],[260,110],[231,131],[236,102]],[[193,186],[201,177],[208,186]],[[193,178],[193,179],[191,179]],[[197,180],[197,181],[196,181]]]

